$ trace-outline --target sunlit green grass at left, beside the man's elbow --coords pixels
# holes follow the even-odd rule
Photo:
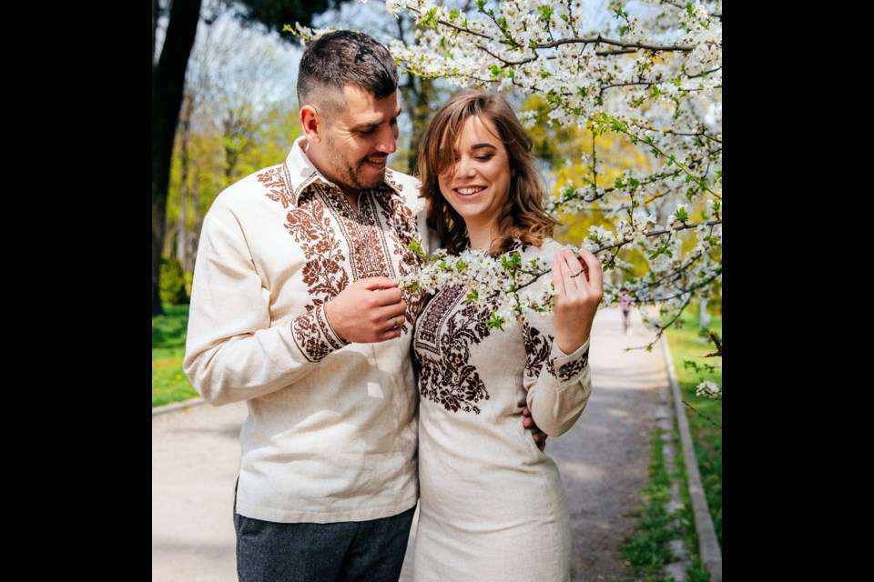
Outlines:
[[[152,406],[198,396],[182,371],[188,306],[164,304],[164,313],[152,317]]]

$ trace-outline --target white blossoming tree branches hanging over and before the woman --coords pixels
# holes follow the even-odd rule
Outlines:
[[[636,146],[645,161],[615,184],[565,184],[544,206],[555,215],[596,209],[612,222],[590,227],[583,241],[616,272],[605,276],[604,304],[625,291],[636,306],[657,305],[645,321],[664,329],[721,281],[722,225],[707,223],[722,220],[722,3],[608,3],[606,18],[586,4],[386,0],[389,13],[417,24],[414,42],[389,49],[418,75],[539,95],[549,111],[520,114],[527,127],[575,125]],[[569,157],[605,176],[600,153]],[[508,323],[551,305],[551,277],[519,287],[523,278],[483,255],[442,256],[408,278],[427,291],[463,283],[476,300],[501,297],[496,316]]]

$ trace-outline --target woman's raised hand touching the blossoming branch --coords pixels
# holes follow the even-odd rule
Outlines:
[[[555,255],[552,272],[555,342],[565,354],[572,354],[589,339],[595,312],[604,296],[601,263],[584,248],[579,257],[564,248]]]

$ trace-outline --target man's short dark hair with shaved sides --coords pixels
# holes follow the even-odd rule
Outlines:
[[[345,85],[382,99],[398,90],[398,65],[385,46],[369,35],[351,30],[321,35],[300,58],[298,105],[329,109],[341,105]]]

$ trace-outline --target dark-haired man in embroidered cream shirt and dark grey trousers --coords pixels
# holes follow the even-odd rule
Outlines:
[[[418,268],[412,240],[429,246],[418,181],[386,168],[397,84],[368,35],[310,43],[303,135],[204,221],[184,366],[209,404],[249,407],[234,508],[243,582],[401,572],[418,496],[410,340],[422,297],[392,279]]]

